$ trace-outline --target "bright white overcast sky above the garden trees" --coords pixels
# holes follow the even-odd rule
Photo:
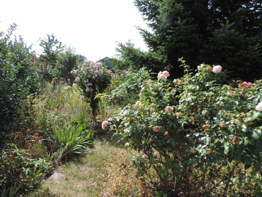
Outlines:
[[[118,42],[132,40],[146,51],[135,26],[147,28],[133,0],[5,0],[0,6],[0,31],[18,25],[15,34],[41,53],[39,37],[54,33],[63,44],[97,61],[113,57]]]

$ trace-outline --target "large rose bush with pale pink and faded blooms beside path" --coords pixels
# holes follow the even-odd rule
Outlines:
[[[221,187],[225,195],[230,185],[258,194],[261,82],[243,88],[227,80],[222,66],[201,65],[194,76],[184,67],[186,74],[174,82],[163,72],[156,81],[146,80],[143,98],[110,119],[111,129],[143,153],[134,164],[149,183],[169,194],[204,196]],[[252,171],[251,178],[243,182],[246,170]]]

